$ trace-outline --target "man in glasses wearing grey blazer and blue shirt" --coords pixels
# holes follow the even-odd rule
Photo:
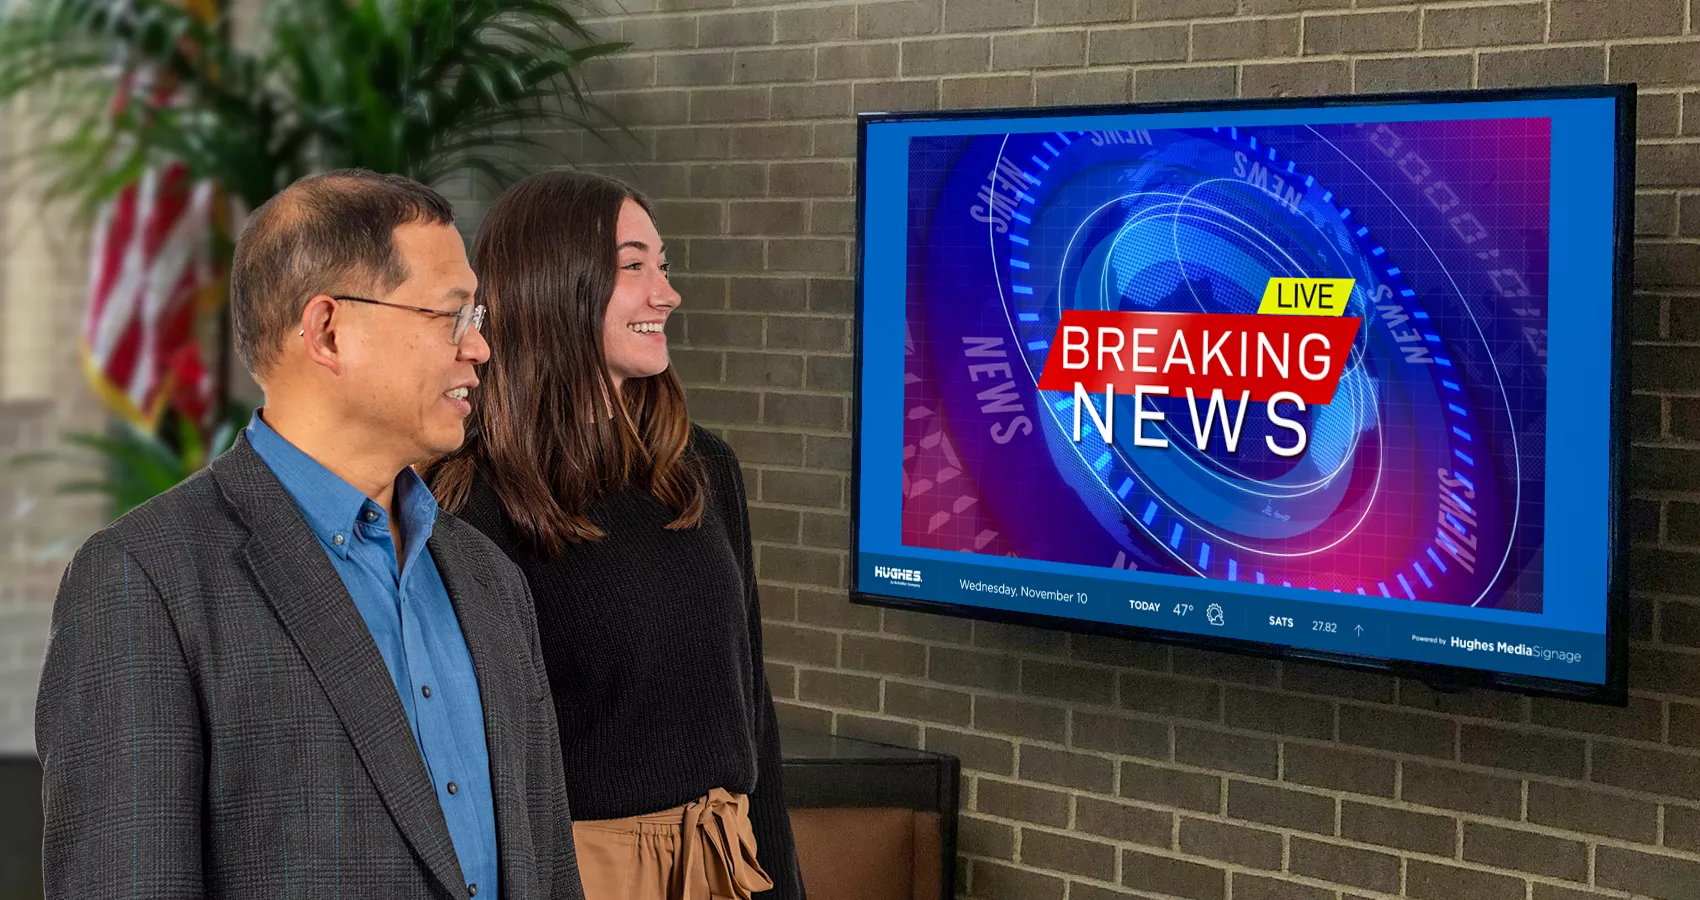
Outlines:
[[[265,407],[53,607],[49,898],[583,898],[525,582],[410,468],[464,439],[474,288],[406,179],[303,179],[243,228]]]

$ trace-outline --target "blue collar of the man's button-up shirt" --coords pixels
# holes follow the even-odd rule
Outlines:
[[[260,410],[253,410],[248,420],[248,442],[284,483],[308,527],[332,553],[347,558],[360,524],[389,529],[384,507],[277,434],[260,417]],[[411,468],[396,475],[396,510],[401,512],[401,534],[408,544],[405,561],[410,563],[437,524],[437,498]]]

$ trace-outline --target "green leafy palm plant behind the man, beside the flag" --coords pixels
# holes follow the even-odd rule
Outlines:
[[[551,134],[624,131],[583,66],[626,44],[598,41],[558,2],[267,0],[235,26],[206,0],[15,0],[0,12],[0,104],[27,111],[14,128],[54,136],[29,160],[48,199],[92,218],[177,167],[218,189],[211,262],[224,272],[243,213],[311,172],[425,184],[469,172],[502,187],[547,162]],[[122,512],[228,446],[241,412],[228,402],[228,328],[219,335],[214,412],[73,436],[104,458],[105,478],[66,488],[104,492]]]

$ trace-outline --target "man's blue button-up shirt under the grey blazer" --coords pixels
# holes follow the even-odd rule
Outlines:
[[[248,442],[294,497],[372,631],[437,789],[461,873],[478,885],[479,900],[500,897],[484,704],[449,589],[425,550],[437,498],[413,470],[396,476],[398,563],[382,507],[272,430],[258,412],[248,422]]]

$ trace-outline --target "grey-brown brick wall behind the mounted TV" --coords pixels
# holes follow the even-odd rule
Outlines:
[[[641,143],[609,170],[658,199],[673,359],[745,463],[782,718],[960,755],[969,897],[1700,897],[1692,26],[1685,0],[626,0],[595,78]],[[1627,709],[845,601],[855,111],[1606,78],[1642,85]]]

